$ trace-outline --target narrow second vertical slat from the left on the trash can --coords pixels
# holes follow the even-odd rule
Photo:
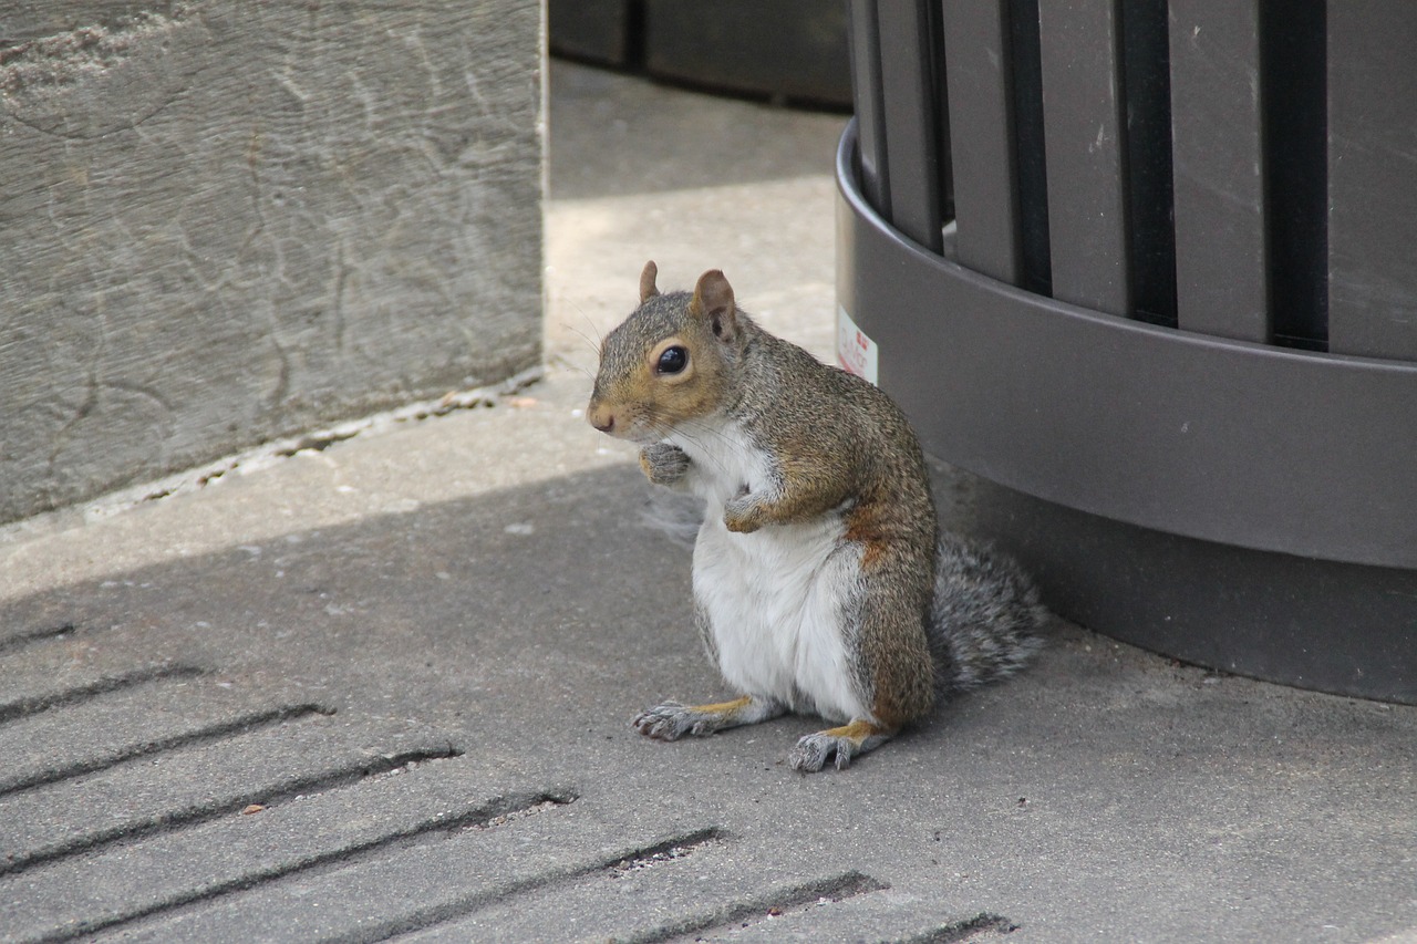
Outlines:
[[[876,9],[886,116],[890,221],[934,252],[941,251],[939,77],[931,51],[927,4],[890,0]]]

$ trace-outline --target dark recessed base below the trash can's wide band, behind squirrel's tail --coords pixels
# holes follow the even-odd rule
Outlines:
[[[944,524],[1015,556],[1066,619],[1221,672],[1417,704],[1417,571],[1153,532],[952,466],[937,479]]]

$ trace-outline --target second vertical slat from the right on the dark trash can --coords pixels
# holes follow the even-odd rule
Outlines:
[[[1260,1],[1170,0],[1176,323],[1270,340]]]

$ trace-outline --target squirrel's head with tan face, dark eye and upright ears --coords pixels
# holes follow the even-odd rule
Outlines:
[[[743,335],[723,272],[704,272],[693,293],[667,295],[655,285],[657,272],[645,264],[639,308],[601,343],[585,412],[601,432],[640,444],[723,408]]]

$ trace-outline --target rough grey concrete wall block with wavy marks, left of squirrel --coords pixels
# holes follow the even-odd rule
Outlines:
[[[536,0],[0,0],[0,522],[536,363]]]

